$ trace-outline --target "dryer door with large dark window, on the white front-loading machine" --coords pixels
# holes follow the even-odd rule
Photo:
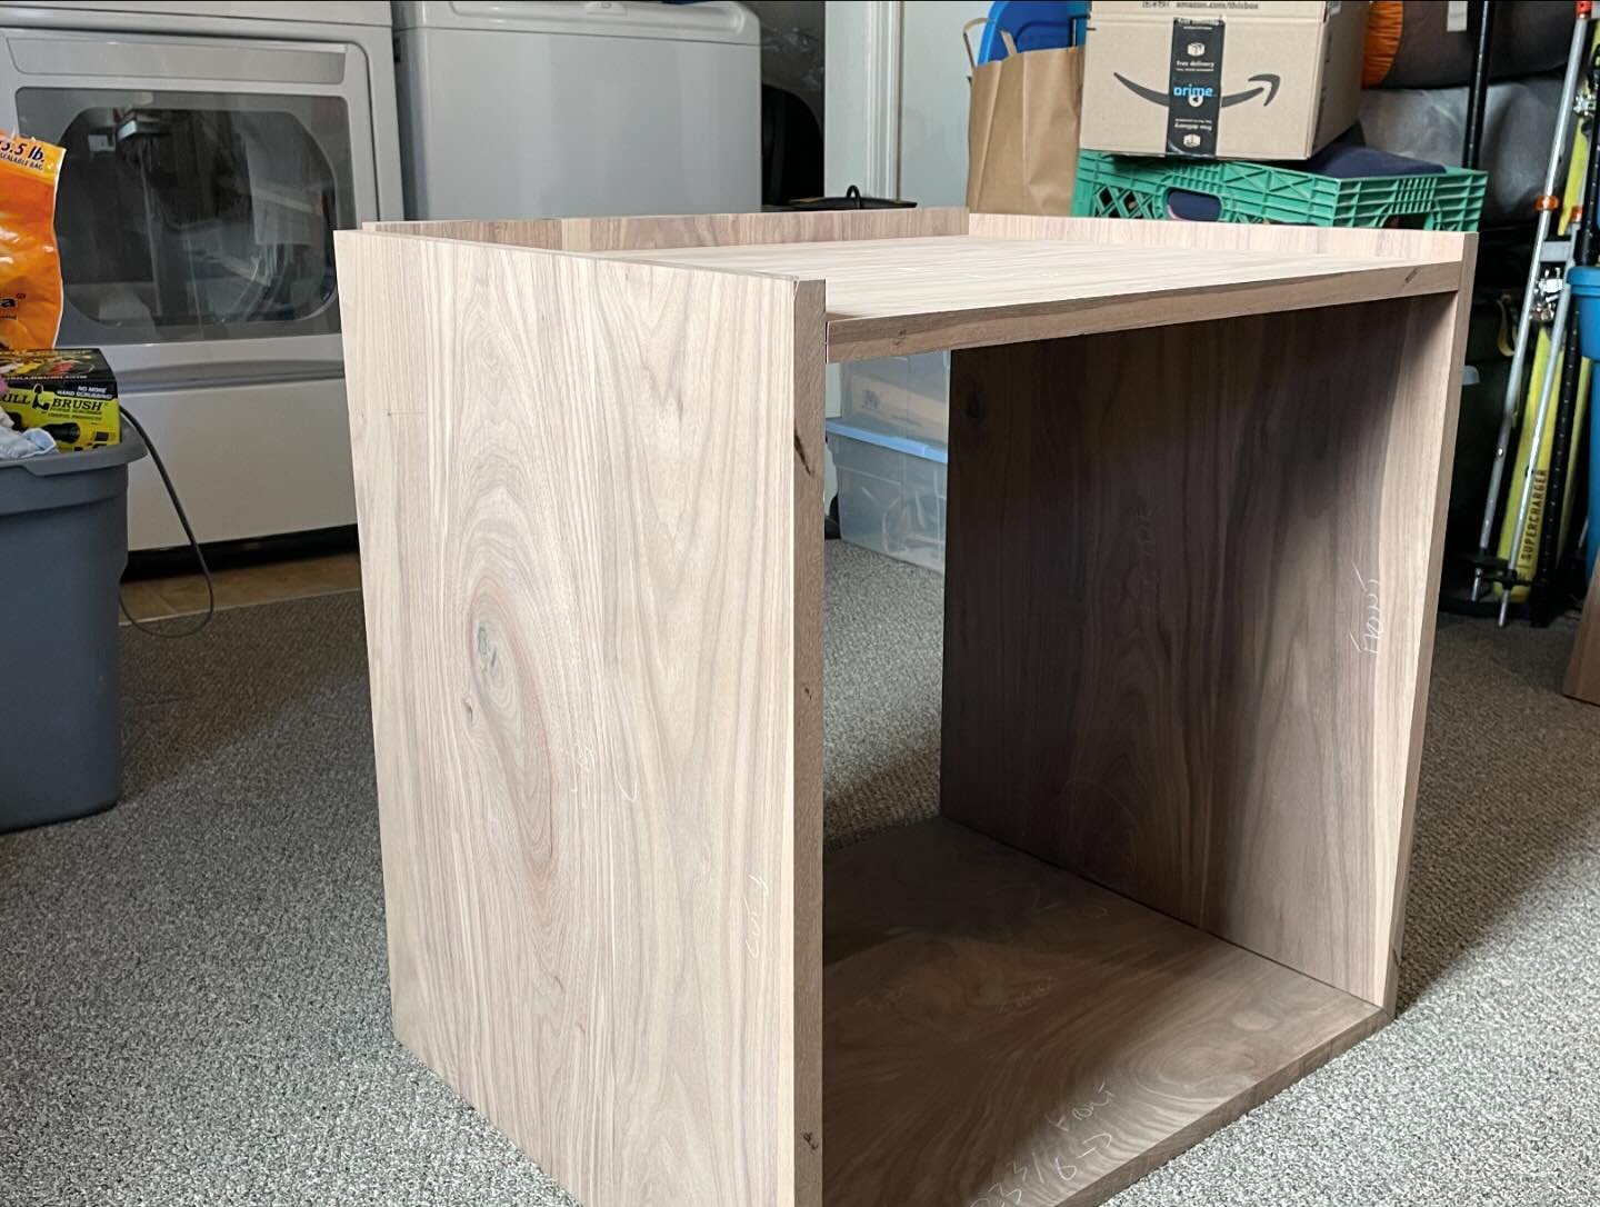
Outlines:
[[[134,392],[341,373],[333,232],[378,216],[358,46],[0,43],[0,126],[67,149],[62,344],[106,347]]]

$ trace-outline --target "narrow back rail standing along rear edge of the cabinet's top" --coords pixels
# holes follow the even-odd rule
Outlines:
[[[646,251],[744,243],[965,235],[966,210],[822,210],[816,213],[669,215],[368,223],[368,231],[512,243],[562,251]]]

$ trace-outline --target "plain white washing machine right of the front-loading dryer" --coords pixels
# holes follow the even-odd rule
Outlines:
[[[406,211],[760,210],[760,42],[728,0],[397,3]]]

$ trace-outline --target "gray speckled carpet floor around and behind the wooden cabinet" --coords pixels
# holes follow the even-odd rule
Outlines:
[[[941,584],[829,576],[840,842],[934,800]],[[1571,636],[1442,623],[1400,1020],[1117,1207],[1600,1202]],[[0,1207],[570,1204],[389,1036],[358,600],[128,634],[125,685],[125,804],[0,839]]]

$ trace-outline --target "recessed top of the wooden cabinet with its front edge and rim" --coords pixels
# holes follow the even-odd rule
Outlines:
[[[368,229],[824,280],[834,362],[1454,291],[1472,240],[960,208]]]

